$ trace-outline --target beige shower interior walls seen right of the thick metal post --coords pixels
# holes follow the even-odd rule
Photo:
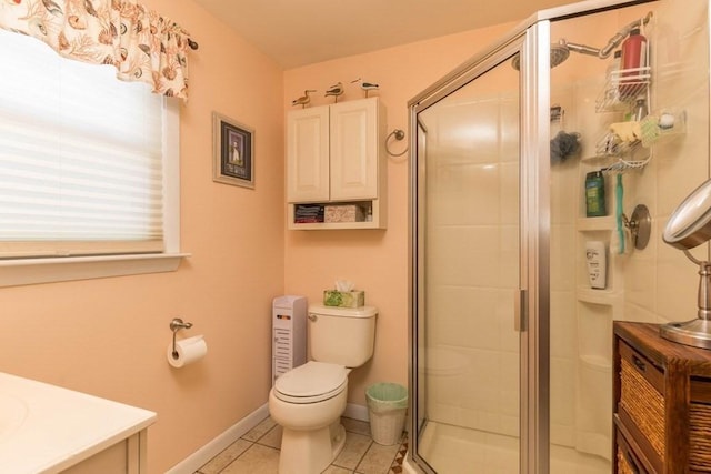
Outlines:
[[[603,222],[599,228],[599,223],[585,219],[583,198],[585,173],[614,162],[595,159],[595,143],[607,133],[611,122],[624,120],[622,112],[595,111],[595,100],[604,89],[604,68],[609,60],[571,56],[564,65],[551,72],[552,103],[563,108],[564,129],[580,132],[582,143],[574,165],[562,162],[551,167],[553,444],[610,457],[608,412],[612,390],[613,320],[667,322],[695,315],[697,269],[680,251],[664,244],[661,233],[673,209],[709,175],[707,3],[705,0],[664,0],[565,20],[552,28],[553,38],[601,44],[604,41],[600,39],[600,31],[609,36],[652,11],[654,16],[644,31],[652,52],[650,112],[683,112],[689,123],[685,134],[665,138],[653,148],[652,159],[645,168],[622,173],[625,214],[631,215],[634,206],[643,203],[650,209],[653,223],[647,249],[633,250],[628,240],[625,253],[618,254],[614,226],[617,173],[605,173],[608,218],[604,219],[611,224]],[[597,26],[597,32],[590,29],[591,24]],[[551,123],[552,135],[555,128],[555,123]],[[643,159],[648,152],[640,149],[634,159]],[[589,240],[604,241],[611,252],[604,291],[589,289],[584,259]],[[571,242],[574,243],[571,245]],[[698,256],[703,258],[704,253],[705,246]],[[572,262],[574,265],[570,264]],[[577,296],[571,299],[571,294]],[[680,309],[687,312],[680,314]],[[574,341],[574,352],[570,351],[569,339]]]

